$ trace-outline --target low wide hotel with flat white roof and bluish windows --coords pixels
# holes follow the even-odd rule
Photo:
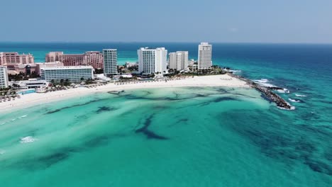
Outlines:
[[[93,79],[94,68],[92,66],[42,67],[40,69],[40,77],[46,81],[68,79],[71,82],[80,82],[82,79]]]

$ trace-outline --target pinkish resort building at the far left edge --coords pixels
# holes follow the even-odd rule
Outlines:
[[[8,70],[15,70],[18,65],[34,63],[34,57],[30,53],[19,55],[18,52],[0,52],[0,65],[6,66]]]

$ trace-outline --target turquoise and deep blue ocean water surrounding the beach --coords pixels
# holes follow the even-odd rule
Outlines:
[[[280,95],[299,100],[296,110],[253,89],[177,88],[1,111],[1,186],[331,186],[332,45],[213,45],[214,64],[289,89]],[[118,48],[123,63],[146,46],[197,58],[197,43],[1,43],[0,51],[43,62],[48,51]]]

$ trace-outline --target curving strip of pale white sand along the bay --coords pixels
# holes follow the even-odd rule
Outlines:
[[[50,103],[53,101],[64,100],[67,98],[84,96],[88,94],[101,93],[106,91],[121,91],[128,89],[153,89],[153,88],[169,88],[169,87],[204,87],[204,86],[216,86],[216,87],[237,87],[248,88],[248,84],[245,81],[236,79],[228,74],[211,75],[203,77],[189,77],[187,79],[172,80],[172,81],[153,81],[144,82],[138,84],[106,84],[104,86],[98,86],[96,88],[88,89],[80,87],[76,89],[68,89],[62,91],[53,91],[43,94],[33,93],[16,98],[15,101],[7,101],[0,103],[1,113],[6,113],[19,108],[28,108],[29,106],[37,106],[43,103]]]

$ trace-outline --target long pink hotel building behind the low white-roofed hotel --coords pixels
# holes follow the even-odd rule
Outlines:
[[[99,51],[89,51],[84,54],[63,54],[63,52],[49,52],[45,62],[62,62],[65,66],[92,66],[94,69],[104,68],[104,57]]]

